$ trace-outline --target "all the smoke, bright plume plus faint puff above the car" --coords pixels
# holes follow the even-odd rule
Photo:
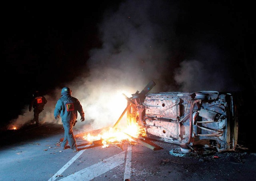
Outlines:
[[[176,36],[179,12],[178,4],[165,0],[127,0],[117,10],[106,10],[98,24],[102,46],[90,50],[90,58],[85,60],[89,72],[65,85],[85,112],[85,121],[81,122],[78,116],[74,129],[114,125],[126,107],[122,93],[131,97],[151,80],[156,82],[151,92],[219,91],[232,87],[232,82],[225,82],[227,67],[219,66],[225,60],[218,48],[205,46],[203,38],[195,46],[188,45],[186,38]],[[178,52],[178,45],[194,47],[190,49],[193,56],[185,54],[182,60],[175,59],[172,53]],[[175,85],[166,85],[170,80]],[[61,88],[56,88],[54,93],[46,95],[48,103],[40,114],[41,122],[61,123],[60,118],[55,120],[53,116],[60,92]],[[26,107],[24,114],[12,122],[20,124],[31,120],[32,115]]]

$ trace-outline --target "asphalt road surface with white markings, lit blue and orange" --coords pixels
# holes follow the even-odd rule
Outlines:
[[[62,150],[62,125],[1,134],[0,181],[190,181],[255,180],[256,154],[211,150],[184,154],[172,143],[151,140],[102,145],[77,138],[79,151]]]

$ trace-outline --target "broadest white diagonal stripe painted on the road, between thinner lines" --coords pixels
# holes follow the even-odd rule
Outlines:
[[[91,165],[90,167],[82,169],[60,180],[61,181],[71,181],[71,180],[89,181],[117,167],[118,165],[121,165],[122,163],[124,163],[124,159],[125,159],[125,151],[122,151],[117,155],[114,155],[108,159],[104,159],[103,162],[102,161],[98,162],[94,165]]]

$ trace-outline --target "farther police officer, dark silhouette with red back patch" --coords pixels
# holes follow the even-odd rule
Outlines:
[[[36,126],[39,126],[39,114],[44,110],[44,105],[46,103],[46,98],[43,95],[40,95],[39,91],[35,91],[33,99],[29,103],[28,110],[31,112],[32,107],[34,108],[34,119],[30,122],[34,123],[36,121]]]

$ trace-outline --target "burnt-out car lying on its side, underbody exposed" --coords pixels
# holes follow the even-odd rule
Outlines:
[[[183,152],[195,147],[234,151],[238,120],[233,96],[218,91],[148,93],[150,82],[128,99],[129,119],[144,127],[146,137],[178,144]]]

